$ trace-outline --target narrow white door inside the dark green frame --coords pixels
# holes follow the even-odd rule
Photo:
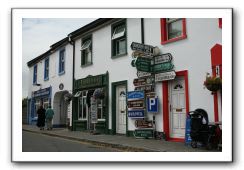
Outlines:
[[[116,87],[116,133],[126,133],[126,86]]]

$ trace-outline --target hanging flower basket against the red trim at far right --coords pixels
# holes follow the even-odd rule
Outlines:
[[[210,76],[209,73],[206,75],[204,86],[212,92],[216,92],[222,88],[222,80],[220,77]]]

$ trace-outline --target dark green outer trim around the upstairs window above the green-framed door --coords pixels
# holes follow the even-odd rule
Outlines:
[[[112,37],[113,37],[113,32],[114,32],[114,28],[117,27],[118,25],[124,23],[125,24],[125,53],[124,54],[119,54],[119,55],[116,55],[114,54],[114,48],[115,46],[113,45],[114,44],[114,40],[112,40]],[[123,38],[123,37],[122,37]],[[116,58],[119,58],[119,57],[122,57],[122,56],[127,56],[127,22],[126,22],[126,19],[122,19],[114,24],[111,25],[111,58],[112,59],[116,59]]]

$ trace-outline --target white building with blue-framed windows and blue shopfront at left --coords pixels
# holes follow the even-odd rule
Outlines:
[[[33,123],[36,110],[43,103],[54,109],[53,124],[66,126],[72,106],[65,102],[64,95],[72,93],[73,47],[68,38],[50,46],[44,54],[27,63],[30,70],[28,91],[28,117]]]

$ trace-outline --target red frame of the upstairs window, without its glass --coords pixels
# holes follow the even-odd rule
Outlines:
[[[182,39],[186,39],[186,19],[185,18],[177,18],[182,20],[182,34],[179,37],[168,39],[168,29],[167,29],[167,19],[168,18],[161,18],[160,25],[161,25],[161,44],[167,44],[175,41],[179,41]]]

